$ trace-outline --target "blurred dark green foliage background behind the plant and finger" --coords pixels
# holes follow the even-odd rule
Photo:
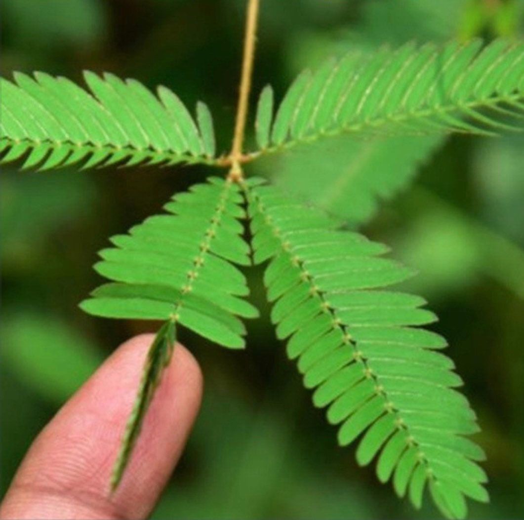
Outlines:
[[[244,0],[6,0],[0,69],[79,81],[82,69],[108,70],[166,84],[191,106],[199,97],[211,105],[225,151],[244,8]],[[270,81],[277,96],[300,69],[333,53],[411,39],[515,38],[524,19],[520,0],[263,0],[261,8],[254,89]],[[409,289],[440,316],[434,328],[449,340],[479,415],[492,503],[473,505],[471,517],[522,518],[524,139],[452,137],[431,150],[414,182],[359,222],[419,270]],[[77,308],[100,283],[96,251],[209,173],[3,168],[2,493],[60,405],[116,345],[151,329]],[[305,183],[315,171],[303,175]],[[373,468],[357,467],[352,447],[337,448],[269,326],[259,275],[250,282],[263,317],[249,324],[245,352],[181,338],[202,365],[204,403],[153,517],[438,517],[431,506],[412,511]]]

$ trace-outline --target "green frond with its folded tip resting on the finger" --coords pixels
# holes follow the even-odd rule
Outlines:
[[[170,359],[177,327],[231,349],[245,346],[239,317],[254,318],[255,307],[244,274],[233,264],[249,265],[242,238],[245,218],[238,185],[220,178],[176,194],[155,215],[128,234],[113,236],[115,247],[100,251],[95,269],[110,283],[95,289],[80,307],[95,316],[165,323],[151,346],[136,404],[129,418],[112,486],[122,478],[141,422]]]

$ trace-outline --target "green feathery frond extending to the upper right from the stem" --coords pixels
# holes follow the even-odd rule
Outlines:
[[[442,49],[410,43],[362,57],[351,53],[314,73],[304,71],[275,116],[261,98],[257,121],[271,121],[271,127],[257,140],[262,153],[272,153],[340,134],[493,135],[521,128],[523,99],[522,42],[499,39],[483,47],[477,39]],[[501,110],[517,121],[500,121]]]

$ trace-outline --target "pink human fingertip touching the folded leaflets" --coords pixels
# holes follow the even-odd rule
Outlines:
[[[112,465],[154,336],[121,345],[41,431],[0,505],[0,518],[146,518],[176,466],[200,408],[202,373],[182,345],[146,415],[124,478]]]

